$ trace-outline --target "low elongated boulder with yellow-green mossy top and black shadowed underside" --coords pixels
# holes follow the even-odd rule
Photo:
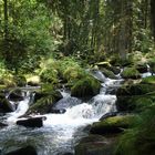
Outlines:
[[[101,122],[93,123],[90,133],[100,135],[121,133],[130,127],[133,118],[133,115],[107,117]]]

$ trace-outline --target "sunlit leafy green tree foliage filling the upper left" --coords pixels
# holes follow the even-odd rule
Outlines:
[[[31,72],[39,65],[40,58],[53,52],[61,42],[61,38],[53,33],[53,30],[59,31],[61,22],[37,0],[8,1],[8,6],[7,45],[4,39],[0,42],[2,56],[11,70]],[[2,19],[2,29],[4,24]]]

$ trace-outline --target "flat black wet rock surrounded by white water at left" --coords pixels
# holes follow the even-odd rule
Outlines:
[[[25,120],[19,120],[19,121],[17,121],[17,124],[25,126],[25,127],[42,127],[44,118],[45,117],[43,117],[43,116],[30,117],[30,118],[25,118]]]

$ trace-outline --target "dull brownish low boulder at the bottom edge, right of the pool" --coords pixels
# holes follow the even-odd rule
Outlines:
[[[116,141],[116,137],[89,135],[75,146],[75,155],[113,155]]]

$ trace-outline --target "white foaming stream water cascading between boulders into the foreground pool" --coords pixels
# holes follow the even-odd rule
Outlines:
[[[74,153],[74,146],[83,136],[85,127],[93,122],[97,122],[101,116],[108,112],[115,112],[116,96],[108,94],[111,89],[120,86],[122,80],[106,79],[101,72],[96,72],[103,81],[100,94],[93,96],[87,103],[82,103],[76,97],[71,97],[70,93],[62,92],[63,99],[58,102],[55,107],[65,108],[64,114],[45,114],[43,127],[25,128],[16,125],[18,117],[23,115],[30,103],[28,94],[24,101],[21,101],[18,108],[9,113],[4,121],[9,124],[0,131],[1,154],[32,145],[37,148],[38,155],[62,155],[64,153]]]

